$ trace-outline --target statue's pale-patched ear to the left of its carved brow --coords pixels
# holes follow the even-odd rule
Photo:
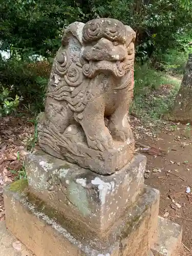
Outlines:
[[[70,24],[66,31],[65,34],[62,37],[62,45],[67,46],[69,44],[69,40],[71,37],[75,37],[80,44],[82,45],[82,29],[84,27],[84,23],[81,22],[74,22]]]

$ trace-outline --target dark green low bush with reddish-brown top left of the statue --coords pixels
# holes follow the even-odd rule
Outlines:
[[[45,88],[51,66],[48,62],[28,63],[22,60],[0,61],[0,79],[3,84],[14,84],[8,87],[11,97],[23,98],[23,104],[31,112],[44,109]]]

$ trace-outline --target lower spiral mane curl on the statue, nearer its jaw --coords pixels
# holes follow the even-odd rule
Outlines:
[[[76,87],[82,82],[82,69],[72,63],[65,75],[65,80],[69,86]]]

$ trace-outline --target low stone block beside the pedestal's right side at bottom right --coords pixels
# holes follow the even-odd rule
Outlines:
[[[152,246],[155,256],[177,256],[181,245],[182,227],[176,223],[158,218],[158,240]]]

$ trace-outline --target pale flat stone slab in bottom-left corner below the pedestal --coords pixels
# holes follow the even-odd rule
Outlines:
[[[0,222],[0,256],[35,256],[6,229],[4,221]]]

